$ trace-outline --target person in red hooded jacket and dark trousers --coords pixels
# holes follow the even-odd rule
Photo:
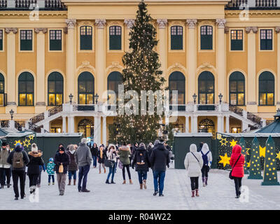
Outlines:
[[[241,146],[235,145],[232,148],[232,155],[230,156],[230,166],[232,167],[232,177],[235,180],[235,193],[236,197],[239,198],[241,195],[241,181],[244,176],[244,155],[241,154]]]

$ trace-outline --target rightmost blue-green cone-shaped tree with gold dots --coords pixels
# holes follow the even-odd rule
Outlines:
[[[280,185],[277,181],[275,144],[270,135],[265,144],[265,148],[265,170],[262,185]]]

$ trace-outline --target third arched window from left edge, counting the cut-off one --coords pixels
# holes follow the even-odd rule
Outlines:
[[[48,106],[58,106],[63,103],[63,76],[54,71],[48,76]]]

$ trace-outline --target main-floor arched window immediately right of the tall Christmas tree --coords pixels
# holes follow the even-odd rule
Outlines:
[[[186,78],[180,71],[174,71],[169,76],[169,98],[172,104],[172,90],[178,91],[178,104],[185,104]]]

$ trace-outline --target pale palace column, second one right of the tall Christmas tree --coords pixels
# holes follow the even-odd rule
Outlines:
[[[193,103],[193,94],[196,92],[196,70],[197,70],[197,41],[195,25],[197,20],[187,20],[188,43],[187,43],[187,69],[188,69],[188,104]],[[193,132],[193,130],[192,130]]]

